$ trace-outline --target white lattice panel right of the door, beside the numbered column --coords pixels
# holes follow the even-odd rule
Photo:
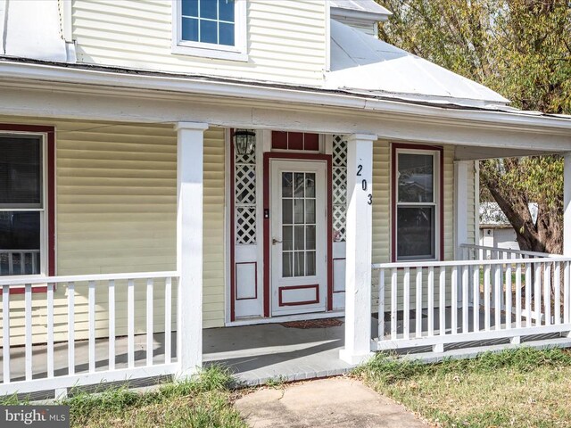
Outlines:
[[[347,211],[347,142],[333,136],[333,239],[345,241]]]

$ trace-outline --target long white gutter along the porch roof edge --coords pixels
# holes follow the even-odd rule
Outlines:
[[[571,118],[547,117],[524,112],[484,111],[449,109],[426,104],[405,103],[393,100],[368,98],[360,95],[323,91],[317,87],[269,86],[231,80],[212,80],[211,78],[156,76],[137,74],[136,72],[117,72],[114,70],[89,70],[62,67],[37,62],[0,61],[0,84],[17,83],[19,86],[37,85],[45,89],[45,82],[52,86],[58,84],[62,90],[73,91],[74,86],[89,86],[93,93],[103,93],[112,88],[115,95],[132,97],[133,89],[137,95],[161,93],[163,97],[194,94],[210,97],[230,97],[252,102],[290,103],[313,107],[320,111],[329,109],[348,109],[403,116],[402,119],[424,123],[441,124],[451,121],[465,121],[477,124],[478,128],[519,129],[528,132],[547,132],[552,135],[568,136],[571,130]],[[55,87],[54,87],[55,89]]]

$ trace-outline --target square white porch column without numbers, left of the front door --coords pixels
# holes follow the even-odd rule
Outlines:
[[[177,358],[179,379],[203,364],[203,134],[206,123],[177,130]]]

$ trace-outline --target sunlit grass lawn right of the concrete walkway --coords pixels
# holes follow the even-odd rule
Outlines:
[[[354,374],[444,427],[571,427],[571,353],[520,348],[439,364],[378,354]]]

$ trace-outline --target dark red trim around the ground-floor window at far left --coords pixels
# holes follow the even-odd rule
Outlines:
[[[29,132],[46,134],[47,144],[47,275],[55,276],[55,128],[38,125],[17,125],[0,123],[0,132]],[[24,287],[10,289],[12,294],[21,294]],[[46,286],[32,287],[32,292],[47,292]],[[2,290],[0,290],[0,294]]]

